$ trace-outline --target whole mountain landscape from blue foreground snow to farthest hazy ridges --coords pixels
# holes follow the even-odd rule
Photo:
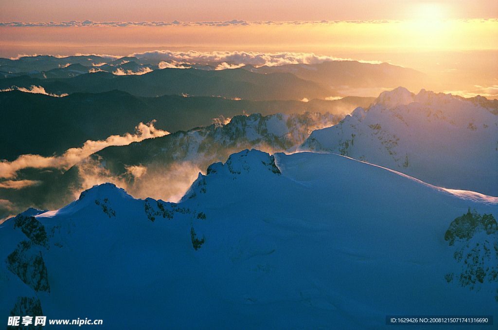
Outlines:
[[[0,59],[0,319],[380,329],[496,314],[498,100],[341,98],[427,79],[385,63],[187,64]],[[107,142],[135,127],[154,138]]]

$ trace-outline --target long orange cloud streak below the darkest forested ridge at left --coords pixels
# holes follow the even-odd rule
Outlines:
[[[109,146],[124,146],[132,142],[139,142],[148,138],[161,137],[169,132],[156,129],[152,121],[148,124],[140,123],[136,126],[135,134],[126,133],[123,136],[113,135],[106,140],[88,140],[81,148],[71,148],[62,156],[43,157],[40,155],[21,155],[15,161],[0,162],[0,178],[14,178],[15,173],[23,168],[55,167],[69,169],[71,166]],[[11,183],[12,184],[12,183]]]

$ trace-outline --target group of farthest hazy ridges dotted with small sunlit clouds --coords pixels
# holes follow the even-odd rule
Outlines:
[[[373,96],[377,90],[399,85],[419,89],[430,82],[429,76],[414,69],[353,60],[254,66],[201,58],[177,63],[153,56],[97,55],[0,58],[0,77],[3,90],[34,85],[57,95],[119,89],[135,96],[183,93],[248,100]]]

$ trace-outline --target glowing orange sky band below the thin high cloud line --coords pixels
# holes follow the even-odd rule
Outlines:
[[[0,26],[0,56],[19,53],[103,52],[186,47],[211,50],[305,51],[331,54],[378,51],[497,49],[498,19],[284,23],[228,26]],[[51,51],[47,52],[47,49]],[[99,49],[101,49],[99,51]]]

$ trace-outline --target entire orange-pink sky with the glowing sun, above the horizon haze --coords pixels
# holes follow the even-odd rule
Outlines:
[[[496,0],[0,0],[0,9],[0,56],[32,52],[31,49],[47,53],[46,49],[54,47],[61,51],[64,47],[81,47],[80,52],[92,47],[121,47],[123,54],[126,47],[269,51],[299,48],[319,53],[330,53],[332,49],[372,52],[498,48]],[[143,23],[233,19],[242,23]],[[86,20],[92,22],[84,26],[52,26]],[[321,20],[328,22],[320,23]],[[275,23],[280,21],[285,23]],[[15,25],[9,24],[12,22],[26,26],[11,26]],[[94,22],[142,23],[103,26]]]

